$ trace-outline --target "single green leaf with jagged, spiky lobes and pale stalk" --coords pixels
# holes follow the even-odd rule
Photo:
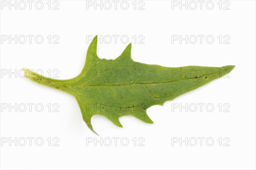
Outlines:
[[[131,59],[131,43],[114,60],[97,56],[97,36],[90,43],[81,73],[68,80],[56,80],[28,69],[26,78],[73,95],[82,117],[93,131],[91,118],[103,115],[118,127],[124,115],[153,123],[146,110],[163,105],[179,95],[196,89],[229,73],[235,66],[163,67]],[[94,132],[94,131],[93,131]]]

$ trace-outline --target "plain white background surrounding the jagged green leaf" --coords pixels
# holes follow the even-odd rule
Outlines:
[[[1,1],[2,3],[3,1]],[[9,2],[9,1],[7,1]],[[12,1],[14,2],[14,1]],[[19,1],[17,1],[18,3]],[[26,1],[25,1],[26,2]],[[36,2],[36,1],[34,1]],[[42,35],[41,44],[32,38],[30,44],[8,40],[0,44],[0,99],[1,104],[42,104],[42,112],[27,108],[24,112],[9,108],[1,110],[0,137],[43,138],[44,144],[20,146],[18,143],[1,142],[1,169],[255,169],[256,168],[256,116],[255,116],[255,46],[256,46],[256,4],[253,0],[230,0],[223,10],[224,1],[213,1],[214,8],[209,10],[204,2],[202,10],[179,9],[172,1],[144,0],[144,10],[134,10],[134,1],[128,1],[129,8],[123,10],[120,3],[115,10],[101,10],[99,7],[86,6],[86,1],[59,0],[59,10],[44,8],[38,10],[35,3],[29,10],[17,10],[1,6],[1,35]],[[94,1],[92,1],[94,3]],[[99,1],[98,1],[99,2]],[[112,1],[111,1],[112,2]],[[122,1],[120,1],[122,2]],[[188,1],[189,3],[190,1]],[[197,2],[197,1],[196,1]],[[51,2],[53,3],[53,1]],[[104,1],[102,1],[104,3]],[[179,3],[179,1],[178,1]],[[185,3],[185,1],[183,1]],[[54,4],[56,5],[56,4]],[[112,3],[114,5],[114,3]],[[141,5],[141,4],[140,4]],[[210,5],[209,5],[210,7]],[[59,44],[49,44],[47,36],[58,35]],[[107,118],[96,115],[92,118],[92,133],[82,120],[78,104],[73,96],[64,92],[35,84],[25,78],[9,74],[26,67],[41,69],[45,76],[47,70],[58,69],[60,79],[73,78],[81,72],[84,65],[88,35],[127,35],[132,42],[134,61],[162,66],[225,66],[235,65],[228,75],[194,91],[188,92],[164,106],[152,106],[147,110],[154,124],[125,116],[120,118],[123,128],[116,127]],[[144,44],[134,43],[132,38],[143,35]],[[192,44],[185,41],[172,43],[172,35],[212,35],[215,40],[209,44]],[[229,44],[221,44],[217,38],[228,35]],[[129,43],[128,42],[128,43]],[[98,43],[100,58],[118,57],[128,43]],[[8,71],[6,75],[3,72]],[[52,73],[53,74],[53,73]],[[52,76],[52,75],[51,75]],[[104,94],[102,94],[104,95]],[[108,98],[108,96],[106,96]],[[59,104],[59,112],[49,112],[47,104]],[[214,105],[212,112],[205,105],[201,112],[189,109],[173,109],[173,104]],[[221,111],[218,104],[222,104]],[[224,112],[223,105],[229,104]],[[34,105],[35,106],[35,105]],[[172,110],[173,109],[173,110]],[[59,139],[59,146],[49,146],[47,138]],[[120,139],[113,144],[86,143],[86,140],[102,138],[128,138],[128,146],[122,146]],[[134,146],[134,137],[137,143]],[[144,146],[138,146],[138,138],[144,138]],[[200,146],[199,137],[205,138]],[[224,138],[230,139],[224,146]],[[174,138],[197,138],[194,141],[172,144]],[[214,144],[208,146],[206,138],[213,138]],[[220,144],[218,139],[221,138]],[[226,140],[227,141],[227,140]],[[22,142],[23,143],[23,142]],[[125,143],[125,142],[124,142]],[[10,145],[10,146],[9,146]],[[87,146],[88,145],[88,146]],[[219,146],[221,145],[221,146]]]

